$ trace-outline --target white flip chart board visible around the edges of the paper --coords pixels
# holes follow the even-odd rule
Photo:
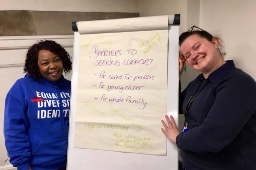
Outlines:
[[[172,115],[178,122],[178,28],[179,15],[168,16],[168,86],[167,115]],[[123,153],[93,149],[74,148],[76,95],[79,65],[80,34],[73,23],[74,59],[71,89],[71,114],[68,141],[68,170],[177,170],[177,146],[167,139],[167,155],[141,153]],[[164,117],[162,118],[164,119]],[[160,120],[159,120],[160,122]],[[159,129],[160,131],[160,129]]]

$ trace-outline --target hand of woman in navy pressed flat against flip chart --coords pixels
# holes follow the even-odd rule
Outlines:
[[[165,119],[167,121],[167,124],[161,120],[164,128],[161,128],[162,132],[174,143],[176,143],[176,137],[179,134],[178,128],[176,126],[175,120],[173,116],[170,116],[170,119],[167,115],[165,115]]]

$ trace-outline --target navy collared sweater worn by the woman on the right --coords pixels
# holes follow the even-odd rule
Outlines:
[[[179,96],[189,131],[177,136],[187,170],[256,170],[256,82],[233,61],[200,74]]]

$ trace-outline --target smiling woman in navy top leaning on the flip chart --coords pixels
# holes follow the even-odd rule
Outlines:
[[[179,94],[183,132],[172,116],[162,132],[180,148],[185,170],[255,170],[256,82],[223,59],[217,38],[195,27],[179,36],[180,74],[183,58],[201,72]]]

